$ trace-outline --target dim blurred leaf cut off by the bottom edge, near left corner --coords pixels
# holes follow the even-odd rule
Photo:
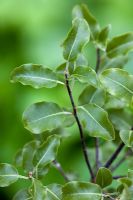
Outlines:
[[[27,189],[22,189],[15,194],[13,200],[33,200],[33,198]]]

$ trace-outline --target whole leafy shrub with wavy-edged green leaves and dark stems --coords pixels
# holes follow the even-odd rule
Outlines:
[[[75,6],[72,14],[72,27],[62,44],[64,63],[55,70],[40,64],[24,64],[11,75],[11,82],[35,89],[58,84],[65,87],[71,108],[43,101],[24,111],[24,127],[33,133],[34,140],[18,152],[16,167],[0,164],[0,186],[9,186],[18,179],[30,180],[29,188],[18,191],[14,200],[133,200],[133,169],[125,174],[115,173],[122,162],[133,155],[133,75],[123,69],[128,52],[133,49],[133,32],[109,39],[110,26],[101,29],[86,5]],[[89,42],[96,49],[95,67],[88,66],[82,51]],[[75,104],[71,85],[77,82],[83,90]],[[90,174],[87,182],[78,178],[69,180],[57,160],[62,134],[55,134],[56,130],[74,123]],[[35,137],[38,134],[45,135],[46,139]],[[95,140],[93,160],[90,160],[86,134]],[[108,153],[105,160],[104,153],[108,152],[111,141],[114,152]],[[17,166],[23,168],[25,175],[18,173]],[[52,166],[64,177],[64,185],[43,183],[42,177]],[[111,185],[113,180],[118,183],[117,188]]]

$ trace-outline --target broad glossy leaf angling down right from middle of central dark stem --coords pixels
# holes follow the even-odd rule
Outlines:
[[[113,126],[105,110],[95,104],[79,106],[78,109],[81,123],[90,136],[101,137],[105,140],[115,138]]]

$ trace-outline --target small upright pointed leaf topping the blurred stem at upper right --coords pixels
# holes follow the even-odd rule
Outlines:
[[[108,39],[108,35],[111,29],[111,25],[109,24],[108,26],[106,26],[105,28],[103,28],[98,36],[98,39],[96,41],[96,46],[97,48],[101,49],[102,51],[106,50],[106,46],[107,46],[107,39]]]

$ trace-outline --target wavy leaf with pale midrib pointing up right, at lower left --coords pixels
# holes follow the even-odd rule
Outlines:
[[[33,163],[35,171],[39,168],[45,167],[53,160],[55,160],[58,148],[60,145],[60,138],[57,135],[49,136],[48,139],[36,150]]]

